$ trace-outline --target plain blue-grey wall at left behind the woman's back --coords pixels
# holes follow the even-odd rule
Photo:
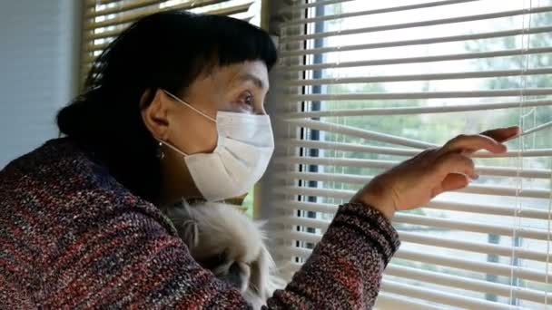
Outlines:
[[[74,96],[81,1],[0,2],[0,169],[57,137],[55,111]]]

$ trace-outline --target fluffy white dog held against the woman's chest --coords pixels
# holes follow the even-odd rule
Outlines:
[[[284,286],[264,244],[262,223],[222,203],[202,202],[163,208],[192,257],[236,286],[255,309]]]

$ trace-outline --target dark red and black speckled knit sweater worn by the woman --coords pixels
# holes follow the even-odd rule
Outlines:
[[[68,139],[0,171],[0,308],[245,309],[190,256],[170,220]],[[366,309],[399,237],[379,211],[340,206],[267,309]]]

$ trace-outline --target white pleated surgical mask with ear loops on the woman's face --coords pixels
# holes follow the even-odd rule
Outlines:
[[[186,154],[160,140],[182,154],[203,198],[208,201],[230,199],[251,189],[261,179],[274,151],[269,116],[218,111],[215,120],[172,93],[165,93],[216,123],[218,141],[212,153]]]

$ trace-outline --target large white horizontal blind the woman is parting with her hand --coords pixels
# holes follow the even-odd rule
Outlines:
[[[550,305],[552,1],[295,1],[272,113],[274,250],[301,267],[340,203],[460,133],[520,125],[480,178],[393,225],[381,309]]]

